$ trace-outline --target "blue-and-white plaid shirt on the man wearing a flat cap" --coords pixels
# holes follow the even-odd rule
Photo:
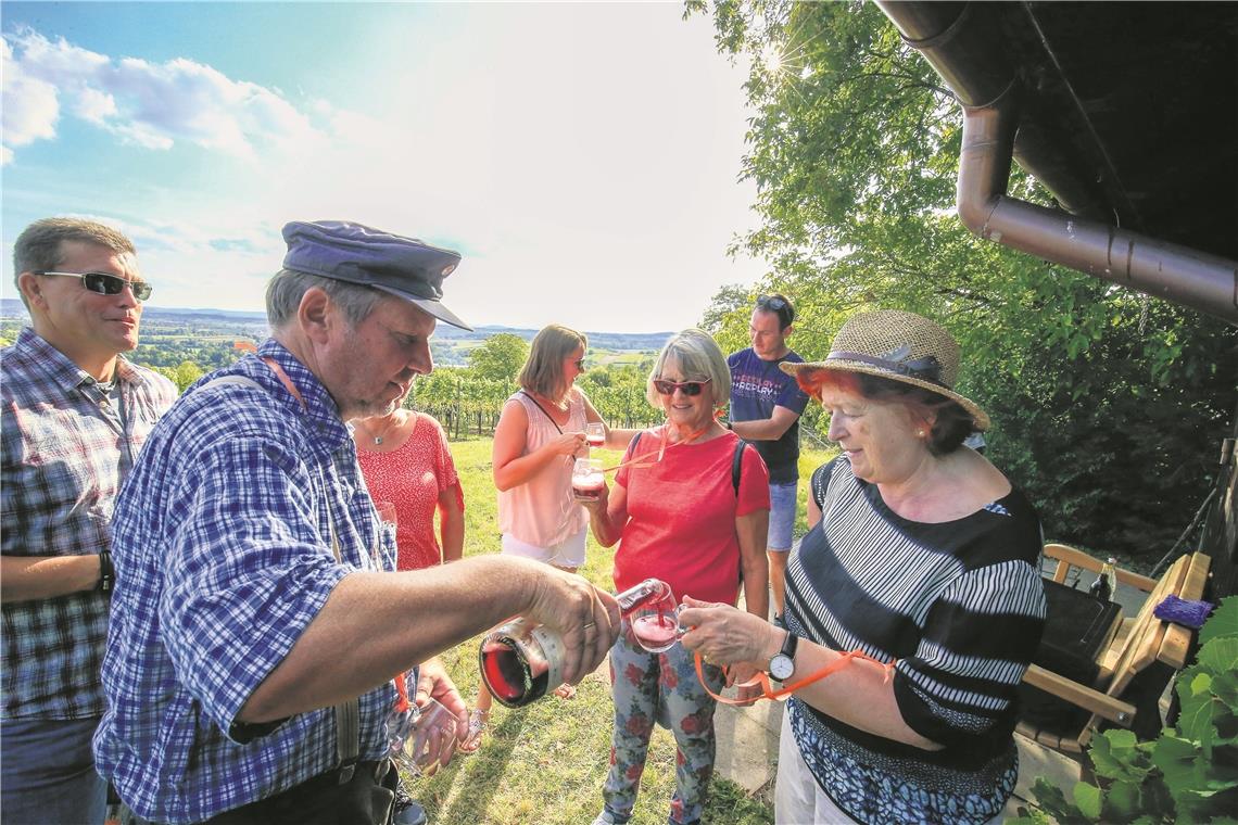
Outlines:
[[[116,502],[94,754],[147,820],[209,819],[335,767],[329,707],[248,743],[229,730],[340,579],[395,568],[335,403],[280,344],[259,355],[306,408],[253,355],[206,376],[160,422]],[[222,375],[262,388],[204,386]],[[361,759],[386,754],[395,701],[390,683],[360,698]]]

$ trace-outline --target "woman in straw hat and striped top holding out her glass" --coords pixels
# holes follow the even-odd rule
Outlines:
[[[825,361],[782,369],[842,448],[812,477],[786,630],[692,602],[683,644],[785,685],[838,663],[787,704],[777,823],[1000,820],[1016,690],[1044,626],[1041,539],[1023,494],[962,447],[989,419],[953,390],[958,345],[920,315],[873,312]]]

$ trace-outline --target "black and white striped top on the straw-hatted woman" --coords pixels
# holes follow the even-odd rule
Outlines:
[[[794,700],[806,762],[860,821],[973,821],[958,811],[977,806],[983,821],[1013,787],[1016,690],[1044,628],[1035,511],[1011,491],[957,521],[912,522],[846,456],[813,474],[812,495],[822,519],[790,559],[789,626],[838,651],[896,659],[904,720],[945,748],[874,736]],[[894,809],[852,804],[891,785],[905,792]]]

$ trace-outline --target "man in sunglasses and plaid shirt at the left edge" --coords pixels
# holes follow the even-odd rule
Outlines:
[[[121,233],[37,220],[14,245],[14,272],[30,327],[0,351],[0,810],[12,823],[103,823],[90,737],[104,710],[108,526],[176,387],[123,356],[151,288]]]

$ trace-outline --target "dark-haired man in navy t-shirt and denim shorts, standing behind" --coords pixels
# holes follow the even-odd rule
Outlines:
[[[795,308],[784,296],[761,296],[753,309],[748,335],[753,345],[727,359],[730,366],[730,424],[751,442],[770,470],[770,558],[774,611],[782,615],[786,557],[795,527],[796,482],[800,480],[800,414],[808,396],[779,364],[803,362],[786,345]]]

